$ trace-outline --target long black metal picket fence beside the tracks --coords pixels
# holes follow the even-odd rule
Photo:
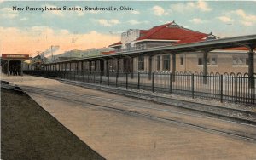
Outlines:
[[[247,74],[209,74],[205,76],[192,73],[159,73],[159,72],[90,72],[90,71],[24,71],[25,74],[39,77],[59,77],[86,83],[98,83],[126,89],[143,89],[157,93],[181,94],[192,98],[204,98],[241,103],[255,104],[256,86],[249,86]]]

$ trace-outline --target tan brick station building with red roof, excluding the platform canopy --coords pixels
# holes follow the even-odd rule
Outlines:
[[[121,35],[121,41],[109,45],[115,52],[102,54],[115,54],[122,51],[140,50],[157,48],[168,45],[180,45],[186,43],[200,43],[219,39],[212,33],[206,34],[199,31],[192,31],[183,26],[177,25],[174,21],[165,25],[154,26],[149,30],[128,30]],[[207,53],[207,71],[213,73],[247,73],[248,72],[248,53],[246,47],[216,49]],[[159,52],[154,56],[148,54],[138,54],[134,57],[134,71],[157,71],[168,72],[202,72],[203,71],[203,51],[191,48],[190,52],[168,53]],[[131,59],[119,60],[120,69],[123,71],[131,70]],[[254,58],[255,70],[255,58]],[[175,63],[175,64],[172,64]],[[111,65],[113,64],[113,65]],[[110,63],[111,68],[115,63]],[[129,64],[129,65],[127,65]],[[149,68],[149,65],[151,68]],[[123,66],[123,67],[122,67]]]

